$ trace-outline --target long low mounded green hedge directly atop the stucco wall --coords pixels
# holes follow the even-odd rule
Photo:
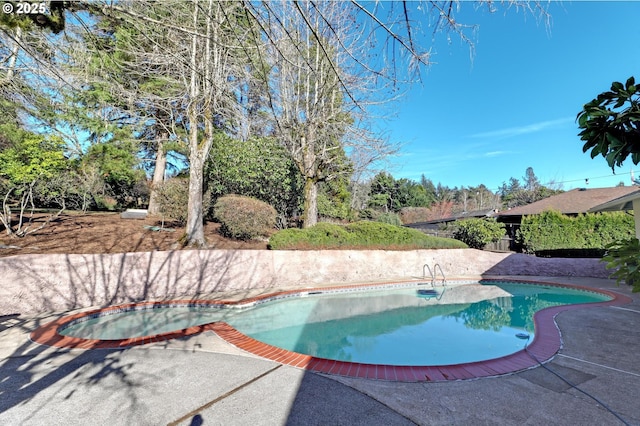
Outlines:
[[[413,250],[466,248],[449,238],[381,222],[355,222],[346,226],[319,223],[307,229],[285,229],[269,239],[272,250],[382,249]]]

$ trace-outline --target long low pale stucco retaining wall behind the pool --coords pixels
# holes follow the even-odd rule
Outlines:
[[[597,259],[541,259],[473,249],[24,255],[0,258],[0,315],[217,291],[419,277],[425,263],[438,263],[447,277],[608,276]]]

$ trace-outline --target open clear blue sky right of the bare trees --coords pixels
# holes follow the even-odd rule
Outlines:
[[[640,166],[627,161],[614,175],[604,158],[591,159],[575,118],[613,81],[640,80],[640,2],[554,2],[548,27],[500,8],[461,3],[457,20],[478,24],[473,58],[453,35],[433,42],[434,64],[385,123],[403,143],[391,174],[495,192],[533,167],[541,183],[565,190],[587,178],[589,188],[630,185]]]

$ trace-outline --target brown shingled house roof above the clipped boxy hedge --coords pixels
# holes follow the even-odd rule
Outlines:
[[[578,188],[562,194],[553,195],[526,206],[514,207],[499,212],[496,216],[527,216],[540,214],[546,210],[556,210],[564,214],[578,214],[594,210],[598,206],[608,205],[610,202],[636,195],[640,197],[637,186],[615,186],[611,188]],[[635,198],[635,197],[634,197]],[[616,204],[617,205],[617,204]],[[620,210],[620,209],[613,209]]]

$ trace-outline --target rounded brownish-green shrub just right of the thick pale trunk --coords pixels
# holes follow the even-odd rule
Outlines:
[[[213,206],[214,218],[220,222],[225,237],[251,240],[266,236],[276,226],[276,210],[255,198],[226,195]]]

